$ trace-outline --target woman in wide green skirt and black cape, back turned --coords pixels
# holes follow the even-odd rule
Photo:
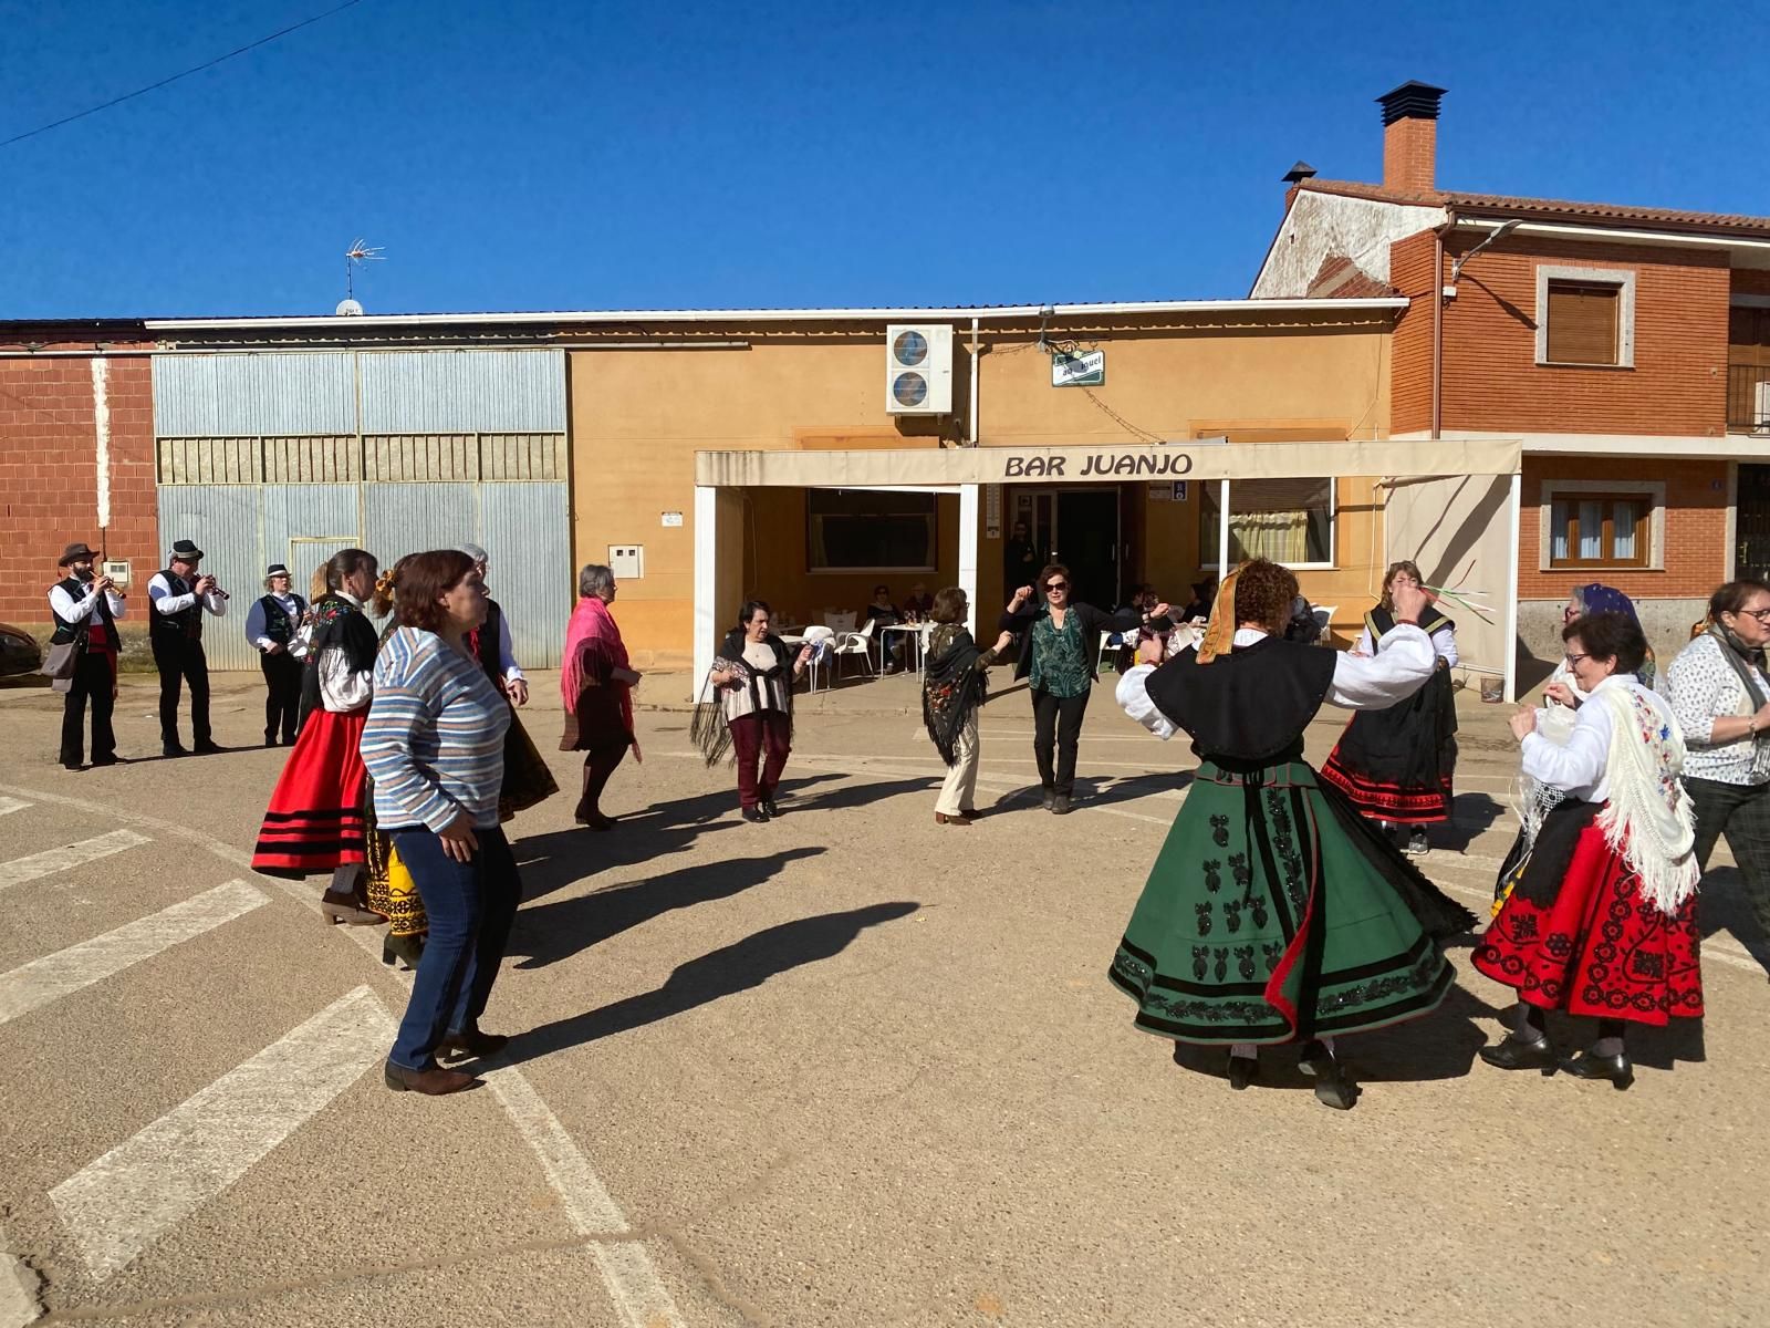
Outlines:
[[[1283,567],[1246,563],[1197,650],[1154,668],[1145,643],[1119,683],[1126,712],[1161,738],[1184,730],[1200,767],[1110,976],[1145,1032],[1228,1046],[1230,1087],[1255,1078],[1260,1046],[1294,1041],[1315,1096],[1351,1110],[1335,1034],[1434,1009],[1453,979],[1441,942],[1474,915],[1303,760],[1322,705],[1389,706],[1432,676],[1428,597],[1397,586],[1397,629],[1358,659],[1281,637],[1296,593]]]

